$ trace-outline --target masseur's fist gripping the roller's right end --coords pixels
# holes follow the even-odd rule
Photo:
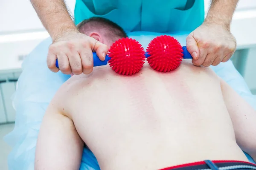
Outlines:
[[[218,65],[227,62],[236,51],[236,39],[230,28],[203,23],[186,38],[186,47],[194,65]]]

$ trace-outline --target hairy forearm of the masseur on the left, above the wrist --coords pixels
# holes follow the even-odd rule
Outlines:
[[[30,0],[53,40],[66,31],[77,31],[64,0]]]

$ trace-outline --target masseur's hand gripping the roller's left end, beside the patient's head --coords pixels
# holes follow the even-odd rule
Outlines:
[[[53,38],[47,55],[47,66],[52,72],[90,74],[93,71],[93,51],[104,61],[108,46],[79,31],[67,31]],[[58,67],[56,67],[58,59]]]

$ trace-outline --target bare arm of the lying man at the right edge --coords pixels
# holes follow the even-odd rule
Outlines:
[[[256,111],[223,80],[221,90],[233,122],[237,144],[256,161]]]

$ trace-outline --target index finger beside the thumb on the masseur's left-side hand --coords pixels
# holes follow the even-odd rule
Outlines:
[[[90,48],[84,49],[80,52],[81,64],[83,66],[83,73],[90,74],[93,71],[93,53]]]

